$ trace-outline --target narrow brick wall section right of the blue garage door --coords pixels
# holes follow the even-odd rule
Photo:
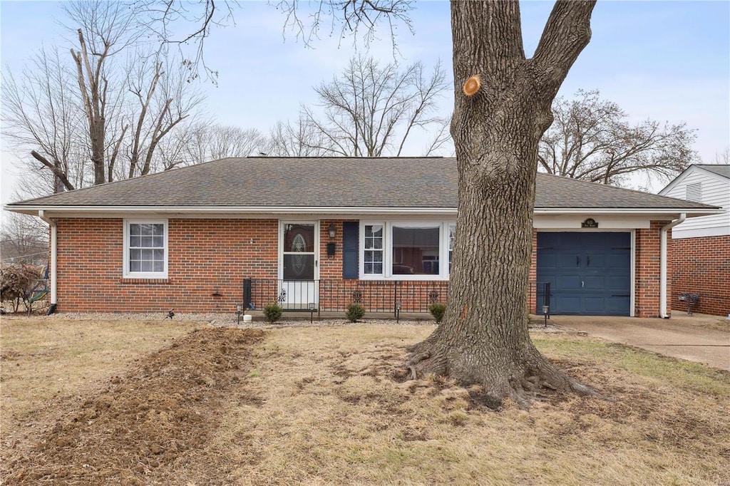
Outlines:
[[[634,315],[636,317],[661,317],[659,315],[659,276],[661,266],[661,228],[670,221],[652,221],[650,228],[637,229],[636,231],[636,275],[635,292],[636,301]],[[672,232],[666,236],[666,251],[672,255]],[[667,275],[670,275],[670,265],[667,261]],[[667,279],[666,295],[672,295],[672,284]],[[671,301],[667,299],[666,311],[670,312]]]

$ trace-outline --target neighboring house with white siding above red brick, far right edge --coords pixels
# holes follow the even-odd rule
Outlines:
[[[693,293],[694,311],[730,315],[730,165],[689,166],[659,194],[723,207],[672,230],[672,304],[686,309],[679,296]]]

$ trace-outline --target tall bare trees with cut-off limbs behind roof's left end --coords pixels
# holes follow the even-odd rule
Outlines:
[[[42,50],[17,80],[4,74],[4,134],[31,153],[26,173],[41,164],[42,183],[26,184],[34,195],[50,192],[48,171],[66,190],[149,173],[160,141],[201,101],[180,62],[145,44],[137,4],[77,1],[64,10],[75,32],[70,55]]]

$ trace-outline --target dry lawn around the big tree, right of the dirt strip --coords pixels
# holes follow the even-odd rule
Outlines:
[[[219,447],[238,464],[232,477],[256,485],[730,480],[727,374],[577,336],[539,336],[561,367],[612,401],[556,396],[529,412],[507,405],[495,413],[437,379],[389,379],[404,344],[430,331],[272,332],[248,386],[258,400],[231,410],[220,429]],[[666,366],[677,379],[653,374]]]

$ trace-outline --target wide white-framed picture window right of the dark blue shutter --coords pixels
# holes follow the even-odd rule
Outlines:
[[[361,222],[361,278],[447,279],[455,228],[449,221]]]

